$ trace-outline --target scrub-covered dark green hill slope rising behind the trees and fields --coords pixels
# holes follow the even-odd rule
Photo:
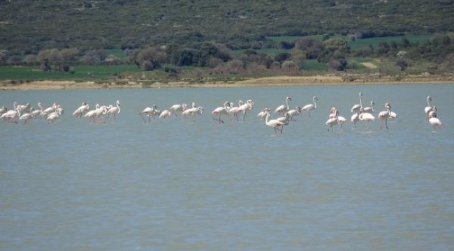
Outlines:
[[[454,0],[2,0],[0,50],[454,31]]]

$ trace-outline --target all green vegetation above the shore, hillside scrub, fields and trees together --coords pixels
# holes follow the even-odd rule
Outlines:
[[[381,59],[446,71],[453,24],[453,0],[8,0],[0,65],[73,76],[81,66],[135,65],[202,78],[355,70]]]

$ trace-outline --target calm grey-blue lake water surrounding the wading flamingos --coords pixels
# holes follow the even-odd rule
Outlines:
[[[360,91],[375,116],[391,102],[397,119],[328,132],[329,108],[349,119]],[[256,114],[286,96],[318,107],[274,135]],[[249,98],[246,121],[212,120],[225,100]],[[71,116],[116,100],[110,124]],[[14,101],[65,112],[0,121],[0,250],[454,248],[454,84],[0,92],[0,105]],[[205,108],[195,122],[138,116],[192,101]]]

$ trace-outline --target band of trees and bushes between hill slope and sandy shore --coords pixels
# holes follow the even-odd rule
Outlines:
[[[354,36],[350,38],[356,40]],[[71,73],[72,66],[78,64],[135,64],[140,69],[161,69],[170,75],[178,75],[182,67],[206,68],[211,73],[263,72],[284,70],[287,73],[305,70],[307,60],[315,59],[326,63],[328,70],[342,71],[356,68],[356,62],[349,58],[380,58],[396,62],[400,70],[406,70],[414,61],[425,60],[432,63],[432,70],[453,70],[454,38],[436,34],[427,42],[411,43],[407,38],[381,42],[374,47],[369,45],[351,50],[344,38],[323,40],[300,38],[295,41],[275,43],[276,49],[284,49],[278,54],[265,54],[249,48],[235,56],[232,48],[224,43],[194,43],[192,46],[170,45],[149,46],[143,49],[126,48],[124,56],[117,57],[105,50],[83,50],[80,48],[47,49],[38,54],[15,55],[0,51],[0,65],[36,64],[43,71],[64,71]]]

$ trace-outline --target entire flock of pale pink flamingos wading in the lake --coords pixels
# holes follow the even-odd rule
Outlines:
[[[274,134],[277,132],[283,132],[284,126],[288,126],[295,116],[300,116],[302,112],[307,112],[309,117],[311,116],[311,111],[317,108],[318,98],[316,96],[312,97],[312,103],[305,105],[304,107],[295,107],[291,109],[289,102],[291,102],[290,97],[286,97],[285,105],[280,105],[274,109],[274,114],[278,114],[277,119],[271,119],[272,109],[265,107],[261,112],[257,114],[258,117],[261,117],[265,121],[266,126],[270,126],[274,129]],[[369,123],[375,120],[374,113],[374,101],[370,102],[370,107],[363,107],[363,93],[359,93],[359,104],[353,105],[351,107],[351,123],[356,128],[356,123],[358,121],[364,121],[366,129],[369,130]],[[425,107],[424,112],[426,114],[427,122],[434,128],[441,126],[441,121],[437,117],[437,107],[432,107],[430,102],[432,98],[427,96],[427,107]],[[224,102],[223,106],[214,108],[212,110],[212,119],[216,120],[219,124],[224,123],[222,119],[224,117],[231,117],[236,121],[239,121],[239,116],[242,115],[242,120],[245,120],[247,113],[251,111],[254,107],[253,100],[247,100],[243,102],[240,100],[238,105],[235,105],[233,102]],[[395,119],[397,114],[391,111],[391,105],[389,102],[386,102],[384,105],[384,110],[379,112],[378,118],[380,119],[380,129],[388,129],[388,119]],[[99,105],[96,104],[94,109],[90,109],[89,105],[86,102],[82,102],[82,105],[75,109],[73,116],[79,119],[85,118],[93,123],[110,123],[111,120],[115,120],[117,114],[121,112],[120,102],[117,100],[115,105]],[[38,117],[45,118],[47,123],[54,123],[59,119],[59,117],[64,113],[63,107],[58,103],[53,103],[50,107],[43,107],[41,102],[38,102],[38,109],[31,107],[29,103],[26,105],[13,103],[13,109],[8,109],[6,106],[0,107],[0,119],[3,119],[7,123],[18,123],[18,121],[24,121],[24,124],[29,123],[29,119],[36,119]],[[172,105],[166,110],[159,110],[156,105],[152,107],[146,107],[141,112],[139,112],[140,117],[142,117],[144,123],[151,123],[151,119],[154,119],[156,116],[159,118],[167,118],[169,116],[178,116],[180,115],[182,119],[187,117],[192,117],[193,121],[196,121],[196,116],[203,114],[203,107],[197,107],[195,102],[192,102],[191,107],[187,107],[186,104],[176,104]],[[147,119],[145,119],[147,117]],[[107,121],[106,121],[107,120]],[[325,122],[328,126],[328,132],[334,131],[334,127],[339,125],[342,128],[342,125],[347,121],[343,116],[339,115],[339,110],[337,107],[332,107],[328,114],[328,120]]]

